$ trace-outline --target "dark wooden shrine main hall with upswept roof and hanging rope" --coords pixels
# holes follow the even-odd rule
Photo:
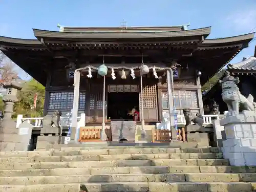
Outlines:
[[[59,27],[33,29],[35,39],[0,36],[0,50],[46,87],[44,115],[73,109],[73,121],[84,113],[86,126],[134,120],[133,109],[145,125],[174,109],[203,115],[202,85],[254,36],[210,39],[211,27],[186,25]]]

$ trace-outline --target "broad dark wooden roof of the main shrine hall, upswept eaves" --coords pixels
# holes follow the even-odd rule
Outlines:
[[[201,83],[203,84],[209,76],[214,75],[242,49],[248,47],[249,41],[254,36],[254,33],[250,33],[207,39],[210,29],[210,27],[194,30],[181,30],[174,27],[137,27],[131,32],[105,32],[104,30],[93,32],[89,31],[89,28],[88,32],[33,29],[37,39],[0,36],[0,50],[43,85],[46,84],[49,62],[53,63],[53,59],[66,56],[65,54],[74,56],[79,52],[91,56],[95,53],[98,53],[96,55],[112,53],[141,55],[141,50],[143,55],[144,52],[152,55],[157,50],[163,53],[162,57],[171,57],[176,54],[190,55],[191,60],[202,72]],[[138,31],[135,32],[136,30]],[[159,57],[159,55],[156,56],[156,58]]]

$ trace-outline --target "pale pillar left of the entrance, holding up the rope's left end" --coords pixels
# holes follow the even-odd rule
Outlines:
[[[77,113],[78,113],[78,103],[79,103],[79,86],[80,86],[80,72],[75,71],[74,74],[74,98],[73,98],[73,109],[72,109],[72,120],[71,120],[71,136],[70,141],[74,142],[76,138],[77,130]],[[78,141],[75,141],[78,142]]]

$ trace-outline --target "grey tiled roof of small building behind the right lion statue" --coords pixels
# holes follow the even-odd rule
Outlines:
[[[230,64],[227,68],[237,70],[256,70],[256,57],[249,57],[241,62]]]

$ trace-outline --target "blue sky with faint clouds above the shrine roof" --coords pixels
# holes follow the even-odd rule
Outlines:
[[[35,38],[32,28],[58,31],[70,27],[211,26],[208,38],[256,31],[256,0],[0,0],[0,35]],[[253,55],[256,40],[232,61]]]

